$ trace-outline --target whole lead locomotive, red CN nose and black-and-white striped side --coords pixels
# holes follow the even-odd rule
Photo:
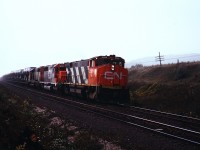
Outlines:
[[[128,70],[124,64],[124,59],[115,55],[65,63],[64,91],[96,101],[128,102]]]

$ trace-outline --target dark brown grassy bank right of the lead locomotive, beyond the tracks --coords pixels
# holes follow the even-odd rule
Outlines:
[[[133,105],[200,117],[200,62],[129,70]]]

